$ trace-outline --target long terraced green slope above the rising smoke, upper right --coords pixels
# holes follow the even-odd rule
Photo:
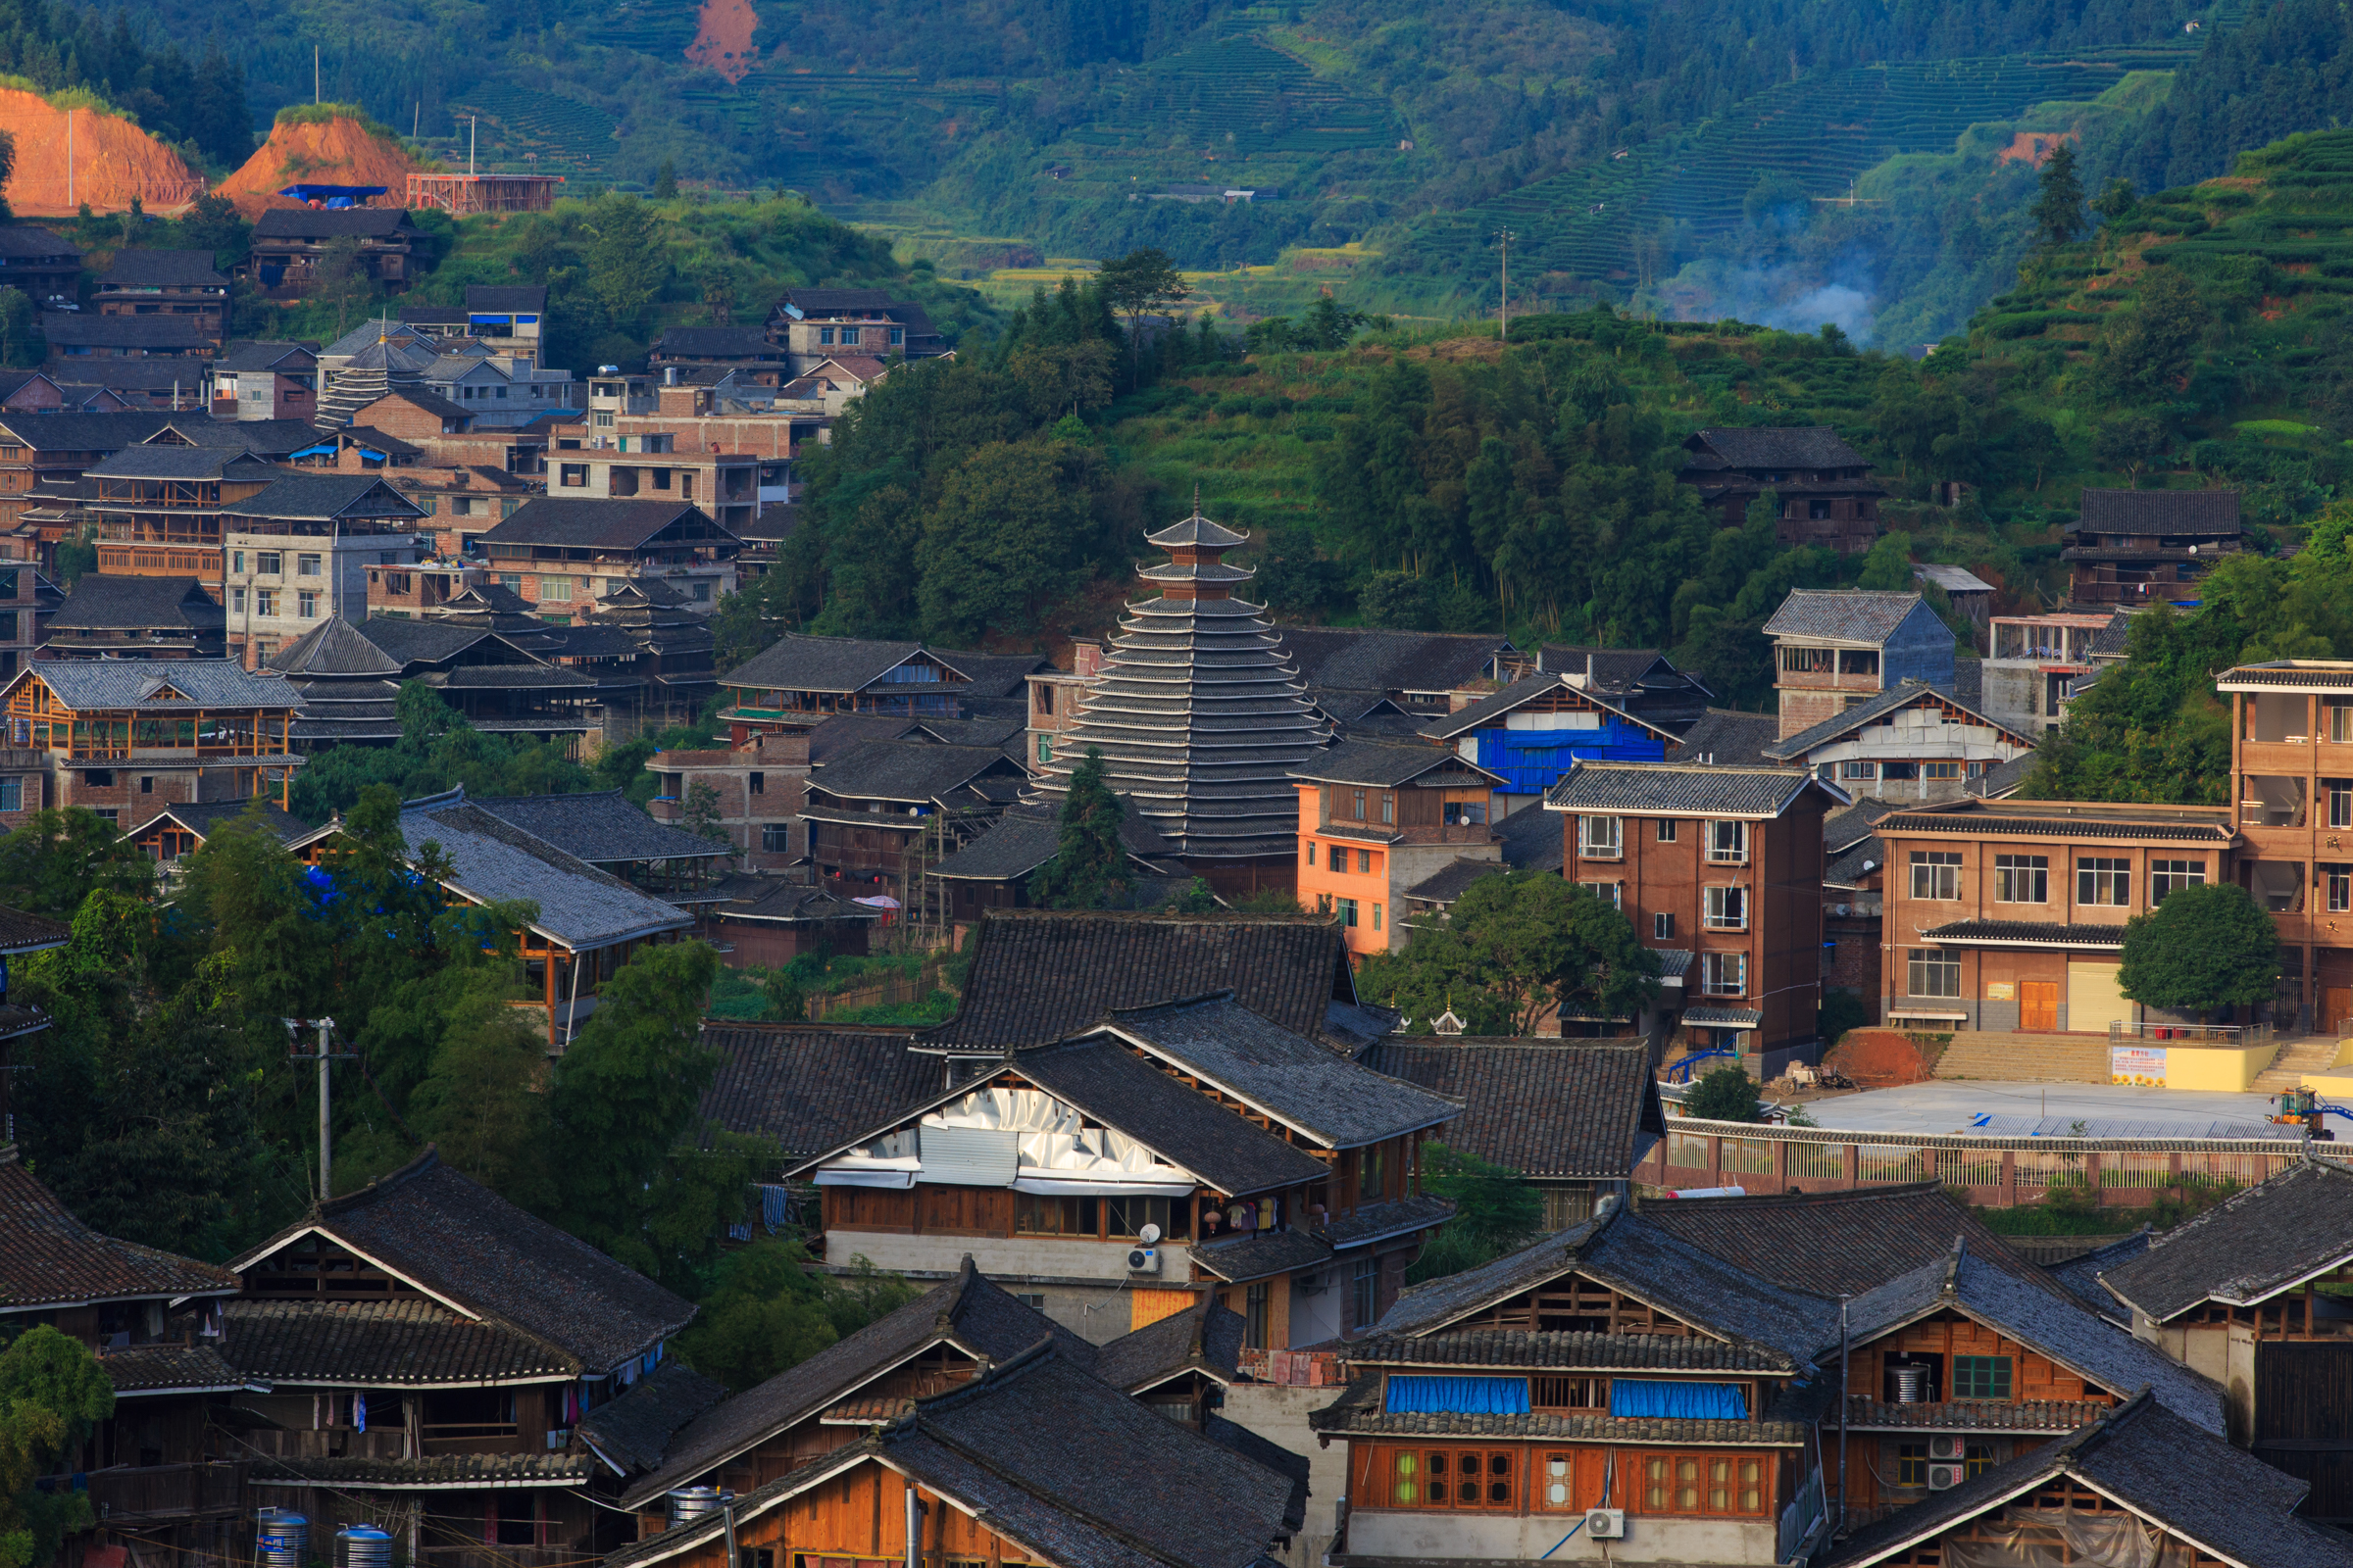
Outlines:
[[[2139,52],[2146,54],[2146,52]],[[1661,139],[1555,174],[1457,214],[1428,219],[1414,249],[1461,263],[1497,230],[1515,235],[1532,270],[1628,282],[1640,247],[1675,249],[1744,221],[1741,202],[1767,174],[1807,195],[1845,195],[1864,169],[1897,153],[1939,153],[1984,120],[2035,103],[2094,99],[2127,59],[1958,59],[1857,66],[1786,82],[1687,136]]]

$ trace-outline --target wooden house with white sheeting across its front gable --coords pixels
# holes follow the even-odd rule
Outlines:
[[[1452,1213],[1417,1192],[1417,1150],[1459,1103],[1233,992],[1111,1009],[979,1067],[793,1166],[826,1194],[828,1262],[939,1276],[955,1246],[1089,1340],[1209,1288],[1252,1347],[1287,1349],[1367,1326]]]

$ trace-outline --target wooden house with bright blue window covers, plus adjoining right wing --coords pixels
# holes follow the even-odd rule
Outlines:
[[[2137,1389],[2198,1441],[2221,1434],[2214,1382],[1927,1185],[1614,1204],[1414,1286],[1339,1354],[1351,1389],[1313,1427],[1348,1443],[1334,1554],[1367,1566],[1546,1547],[1600,1561],[1609,1540],[1631,1561],[1784,1563],[1831,1544],[1840,1474],[1857,1486],[1845,1521],[1861,1526],[1937,1509],[1944,1488]],[[1946,1443],[1951,1474],[1932,1476]],[[1569,1526],[1595,1507],[1617,1516],[1605,1540],[1579,1540]]]

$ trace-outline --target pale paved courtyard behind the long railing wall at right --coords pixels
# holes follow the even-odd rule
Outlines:
[[[2191,1088],[2132,1088],[2129,1084],[1995,1084],[1939,1079],[1901,1088],[1807,1100],[1821,1126],[1868,1133],[2042,1133],[2066,1135],[2075,1121],[2097,1138],[2278,1138],[2264,1124],[2278,1110],[2266,1095]],[[2353,1145],[2353,1119],[2329,1117],[2327,1128]],[[2353,1152],[2353,1150],[2348,1150]]]

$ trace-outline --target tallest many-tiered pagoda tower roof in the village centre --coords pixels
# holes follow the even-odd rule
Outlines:
[[[1191,517],[1148,536],[1169,552],[1139,574],[1160,597],[1127,607],[1035,797],[1059,799],[1092,745],[1111,788],[1181,858],[1289,860],[1299,830],[1289,771],[1327,733],[1264,607],[1233,597],[1254,571],[1224,552],[1247,541],[1202,517],[1198,498]]]

